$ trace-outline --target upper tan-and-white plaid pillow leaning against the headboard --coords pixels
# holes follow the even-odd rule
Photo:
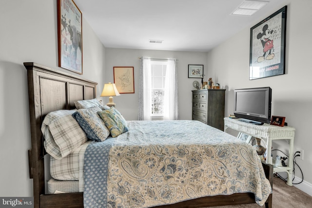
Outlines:
[[[41,126],[44,148],[54,158],[61,159],[88,140],[85,132],[72,116],[76,110],[48,113]]]

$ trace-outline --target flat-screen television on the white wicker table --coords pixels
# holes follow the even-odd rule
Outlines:
[[[270,123],[272,89],[270,87],[235,89],[234,115],[257,125]]]

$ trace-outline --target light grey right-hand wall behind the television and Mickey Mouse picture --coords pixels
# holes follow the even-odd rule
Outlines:
[[[304,160],[297,159],[305,182],[312,183],[312,1],[290,0],[286,29],[286,74],[249,80],[249,28],[241,31],[208,53],[208,76],[224,85],[225,114],[233,113],[234,93],[237,88],[272,88],[272,115],[285,116],[289,126],[296,128],[294,149],[304,150]],[[285,5],[281,5],[282,8]],[[270,16],[271,14],[268,14]],[[266,17],[263,17],[265,19]],[[260,19],[259,19],[260,21]],[[254,22],[256,24],[258,22]],[[288,143],[273,143],[273,149],[287,151]],[[280,152],[278,155],[282,155]],[[296,168],[295,175],[302,178]],[[312,190],[310,190],[312,191]]]

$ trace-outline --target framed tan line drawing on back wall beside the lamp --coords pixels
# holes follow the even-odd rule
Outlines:
[[[119,93],[135,93],[134,67],[114,66],[114,82]]]

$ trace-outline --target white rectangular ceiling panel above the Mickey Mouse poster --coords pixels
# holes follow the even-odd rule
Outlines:
[[[240,6],[235,9],[232,15],[252,16],[256,11],[264,7],[269,1],[244,0]]]

